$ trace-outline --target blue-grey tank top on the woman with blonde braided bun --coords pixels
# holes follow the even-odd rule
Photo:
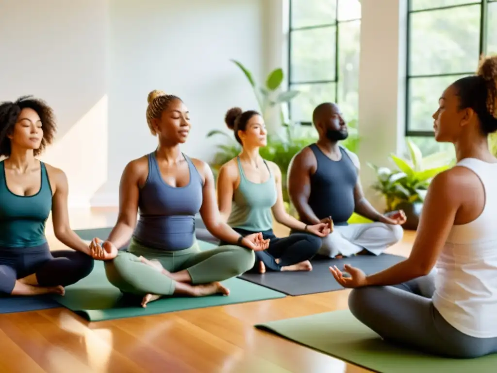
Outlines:
[[[184,187],[168,185],[159,170],[155,152],[150,153],[149,175],[140,189],[139,219],[133,237],[154,249],[187,249],[195,242],[195,214],[202,206],[203,183],[200,174],[183,154],[190,174]]]

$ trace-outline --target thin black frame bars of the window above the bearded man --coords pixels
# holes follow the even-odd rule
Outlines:
[[[343,21],[338,20],[338,2],[339,1],[344,1],[344,0],[336,0],[336,12],[335,12],[335,21],[332,23],[320,23],[320,24],[315,24],[315,25],[308,25],[308,26],[302,26],[302,27],[292,27],[292,2],[293,0],[288,1],[288,75],[287,75],[287,83],[288,83],[288,88],[291,89],[292,85],[312,85],[312,84],[327,84],[327,83],[334,83],[335,84],[335,102],[338,103],[338,75],[339,75],[339,29],[340,29],[340,24],[341,23],[348,23],[348,22],[357,22],[362,20],[362,14],[361,18],[354,18],[354,19],[345,19]],[[335,27],[336,32],[335,32],[335,79],[332,80],[311,80],[311,81],[292,81],[292,74],[291,74],[291,69],[292,69],[292,33],[295,31],[302,31],[302,30],[314,30],[318,28],[325,28],[325,27]],[[288,102],[288,117],[291,122],[294,122],[296,124],[300,124],[303,126],[311,126],[312,121],[293,121],[292,120],[292,110],[291,110],[291,102]]]

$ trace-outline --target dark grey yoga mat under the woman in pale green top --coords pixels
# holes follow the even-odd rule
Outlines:
[[[378,256],[357,255],[346,259],[316,259],[311,261],[313,270],[310,272],[274,272],[266,270],[263,275],[245,273],[240,278],[288,295],[313,294],[343,289],[331,275],[330,266],[336,266],[341,270],[344,264],[350,264],[369,275],[382,271],[405,259],[391,254]]]

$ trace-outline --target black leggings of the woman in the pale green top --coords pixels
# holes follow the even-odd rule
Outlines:
[[[245,229],[233,228],[242,236],[255,233]],[[306,260],[310,260],[316,255],[321,247],[321,238],[311,234],[296,233],[288,237],[278,238],[272,229],[262,232],[264,240],[269,239],[269,247],[264,251],[255,252],[255,264],[252,268],[258,271],[259,261],[264,263],[266,269],[271,271],[281,271],[281,267],[291,266]],[[221,242],[220,245],[226,245]],[[279,259],[279,263],[276,263]]]

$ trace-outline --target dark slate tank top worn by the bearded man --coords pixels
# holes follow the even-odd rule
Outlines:
[[[319,219],[331,216],[333,224],[347,225],[354,212],[354,187],[357,169],[340,147],[341,159],[333,161],[316,144],[309,146],[316,156],[316,173],[311,176],[309,206]]]

